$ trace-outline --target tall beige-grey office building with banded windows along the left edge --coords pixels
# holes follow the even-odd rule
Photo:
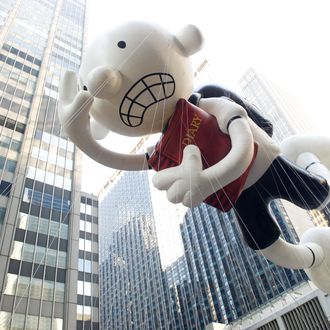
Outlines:
[[[0,3],[1,329],[75,329],[91,314],[77,311],[80,154],[56,114],[60,76],[79,68],[85,8]]]

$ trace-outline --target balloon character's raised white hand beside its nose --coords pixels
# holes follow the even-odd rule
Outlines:
[[[88,91],[78,91],[77,76],[72,71],[66,71],[60,85],[60,122],[72,140],[75,133],[87,129],[89,111],[93,103],[93,96]]]

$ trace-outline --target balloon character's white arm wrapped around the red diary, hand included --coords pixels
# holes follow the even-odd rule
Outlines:
[[[199,107],[214,115],[221,130],[230,135],[231,151],[220,162],[203,170],[198,147],[188,145],[179,166],[162,170],[153,177],[155,187],[166,190],[170,202],[188,207],[197,206],[240,177],[251,163],[254,151],[247,114],[241,106],[227,99],[207,99]]]

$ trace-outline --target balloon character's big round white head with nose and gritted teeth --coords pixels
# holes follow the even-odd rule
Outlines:
[[[94,96],[90,115],[127,136],[160,132],[178,99],[192,93],[189,57],[202,43],[193,25],[173,35],[155,24],[128,22],[100,36],[80,68],[80,88]]]

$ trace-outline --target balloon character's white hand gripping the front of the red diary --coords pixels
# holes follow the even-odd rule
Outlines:
[[[156,173],[152,182],[157,189],[166,190],[170,202],[187,207],[199,205],[213,193],[210,182],[203,175],[201,153],[195,145],[186,146],[179,166]]]

